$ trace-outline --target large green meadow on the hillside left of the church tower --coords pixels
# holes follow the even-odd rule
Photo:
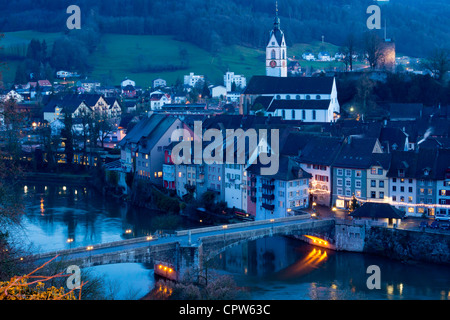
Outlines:
[[[139,69],[145,69],[148,65],[179,65],[182,57],[188,62],[186,69],[139,72]],[[112,74],[115,83],[128,77],[142,87],[150,86],[151,81],[158,77],[173,84],[177,78],[183,80],[183,75],[189,72],[203,74],[209,81],[222,83],[227,70],[248,76],[262,74],[264,52],[232,46],[213,55],[190,43],[176,41],[170,36],[108,34],[102,37],[92,57],[92,64],[95,66],[92,76],[99,80]]]

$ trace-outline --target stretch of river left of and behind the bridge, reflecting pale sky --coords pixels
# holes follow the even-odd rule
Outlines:
[[[25,241],[35,252],[69,249],[196,227],[179,216],[105,199],[86,187],[27,183],[22,189]]]

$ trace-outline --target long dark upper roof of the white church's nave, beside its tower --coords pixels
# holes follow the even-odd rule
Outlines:
[[[244,94],[331,94],[332,77],[253,76]]]

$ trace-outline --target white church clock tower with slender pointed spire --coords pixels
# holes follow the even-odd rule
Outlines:
[[[270,31],[269,44],[266,47],[266,75],[271,77],[287,77],[287,52],[284,33],[280,29],[278,2],[273,30]]]

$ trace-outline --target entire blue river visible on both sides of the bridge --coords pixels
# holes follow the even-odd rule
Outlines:
[[[187,219],[128,207],[84,187],[27,184],[23,195],[25,215],[15,235],[34,252],[199,226]],[[370,290],[366,285],[371,265],[380,268],[380,289]],[[450,299],[448,267],[334,252],[284,237],[232,247],[217,256],[213,266],[232,275],[248,299]],[[144,264],[97,266],[90,271],[115,288],[110,290],[114,299],[139,299],[154,285],[153,270]]]

